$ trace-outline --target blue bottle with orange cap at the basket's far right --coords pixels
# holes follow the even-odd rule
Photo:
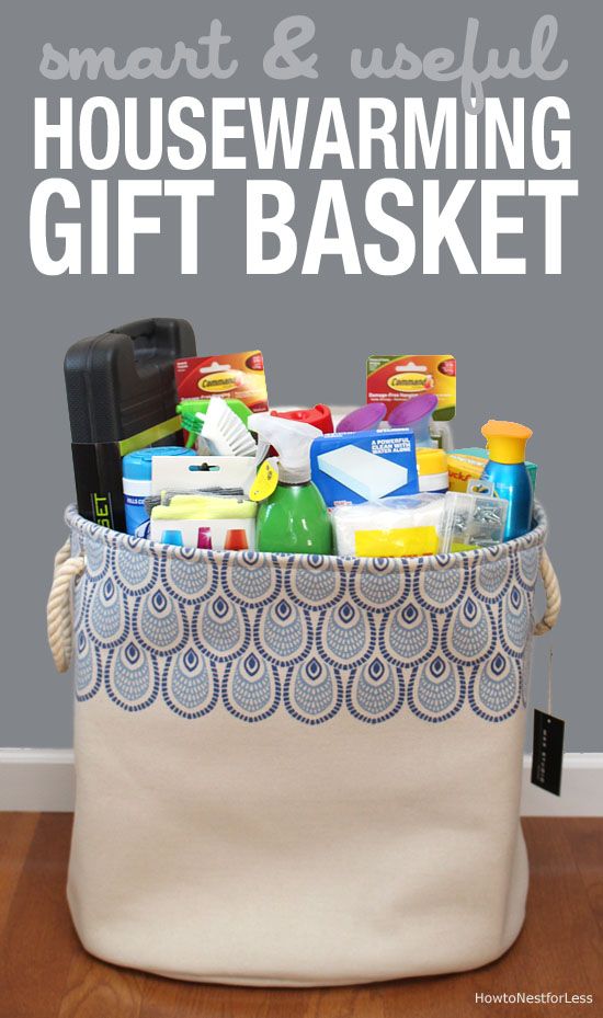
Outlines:
[[[534,491],[525,466],[525,445],[532,431],[511,421],[488,421],[481,434],[489,453],[481,477],[492,481],[497,495],[509,502],[502,538],[508,541],[532,527]]]

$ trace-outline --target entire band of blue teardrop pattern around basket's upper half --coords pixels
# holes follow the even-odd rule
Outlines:
[[[444,722],[465,705],[498,722],[525,705],[538,540],[400,561],[75,530],[88,556],[75,587],[80,702],[105,691],[127,711],[157,702],[182,719],[227,710],[243,722],[282,709],[307,725],[342,711]]]

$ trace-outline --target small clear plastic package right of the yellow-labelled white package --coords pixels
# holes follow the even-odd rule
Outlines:
[[[440,522],[440,551],[470,551],[503,539],[509,503],[493,494],[487,481],[469,481],[467,491],[444,495]]]

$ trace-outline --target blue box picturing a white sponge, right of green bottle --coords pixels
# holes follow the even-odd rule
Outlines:
[[[312,442],[310,465],[328,506],[419,491],[414,435],[408,428],[325,435]]]

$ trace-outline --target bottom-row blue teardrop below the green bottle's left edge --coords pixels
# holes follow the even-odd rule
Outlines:
[[[250,651],[230,663],[223,680],[226,709],[241,721],[264,721],[278,709],[281,680],[259,654]]]

